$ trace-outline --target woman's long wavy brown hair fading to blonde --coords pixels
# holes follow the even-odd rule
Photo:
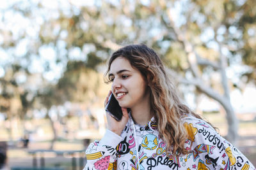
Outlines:
[[[201,118],[182,103],[177,89],[173,85],[159,55],[146,45],[128,45],[114,52],[109,59],[105,82],[108,83],[110,66],[117,57],[125,57],[132,67],[138,69],[150,87],[151,109],[157,122],[159,136],[166,143],[166,153],[169,155],[186,154],[184,148],[188,133],[183,125],[182,117],[191,113]],[[202,118],[201,118],[202,119]]]

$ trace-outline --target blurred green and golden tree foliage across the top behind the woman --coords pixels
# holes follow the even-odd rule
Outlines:
[[[22,107],[33,109],[51,108],[54,104],[65,101],[93,103],[104,98],[108,87],[102,85],[102,74],[98,73],[113,50],[131,43],[145,43],[159,52],[164,63],[175,71],[185,75],[189,70],[188,53],[180,42],[180,37],[187,39],[196,53],[211,62],[220,61],[220,50],[211,45],[220,45],[226,50],[228,66],[234,60],[243,60],[253,71],[244,73],[248,81],[255,81],[256,69],[256,1],[120,1],[112,4],[103,1],[98,6],[77,7],[70,4],[67,8],[45,9],[41,3],[21,6],[13,5],[8,11],[14,11],[29,20],[29,30],[19,34],[11,29],[0,30],[4,40],[2,48],[15,57],[12,71],[6,71],[1,81],[1,100],[10,103],[19,96]],[[182,8],[176,8],[180,4]],[[25,6],[25,7],[24,7]],[[15,7],[15,8],[14,8]],[[179,7],[179,6],[178,6]],[[75,9],[75,10],[74,10]],[[175,9],[180,10],[175,16]],[[58,15],[53,15],[53,14]],[[56,17],[57,16],[57,17]],[[38,20],[42,20],[38,22]],[[4,20],[7,25],[8,20]],[[35,24],[34,24],[35,23]],[[175,32],[176,25],[180,34]],[[35,27],[36,25],[36,27]],[[16,25],[17,26],[17,25]],[[34,29],[35,28],[35,29]],[[212,31],[212,35],[207,30]],[[232,31],[234,30],[234,31]],[[206,33],[205,33],[206,32]],[[15,36],[13,36],[15,34]],[[205,40],[202,40],[202,37]],[[29,41],[24,56],[17,57],[15,47],[21,40]],[[51,47],[56,52],[56,59],[51,62],[60,64],[62,74],[54,83],[42,78],[42,83],[33,92],[26,89],[26,83],[17,83],[15,73],[24,72],[26,78],[35,76],[29,67],[33,60],[40,58],[42,46]],[[79,48],[81,58],[73,59],[70,51]],[[42,59],[43,71],[51,71],[55,65],[49,59]],[[6,66],[8,65],[6,64]],[[54,65],[54,66],[52,66]],[[207,74],[209,82],[214,80],[211,66],[198,66],[202,75]],[[12,73],[11,73],[12,72]],[[22,89],[22,90],[20,90]],[[104,89],[104,90],[102,90]],[[19,94],[19,95],[18,95]],[[28,95],[31,96],[28,101]],[[35,99],[34,99],[35,98]],[[8,101],[8,102],[7,102]],[[0,104],[1,105],[1,104]],[[8,104],[1,105],[2,111],[8,110]],[[10,108],[10,107],[9,107]]]

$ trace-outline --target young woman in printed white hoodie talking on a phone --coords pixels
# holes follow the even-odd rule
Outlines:
[[[180,101],[154,50],[120,48],[106,76],[123,117],[118,122],[107,113],[106,134],[88,146],[84,169],[255,169]]]

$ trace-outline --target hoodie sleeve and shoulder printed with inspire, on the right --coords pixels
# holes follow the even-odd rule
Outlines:
[[[193,115],[182,120],[188,132],[186,146],[193,152],[193,158],[198,161],[198,165],[199,162],[204,162],[205,165],[210,162],[214,169],[255,169],[243,153],[218,134],[210,124]]]

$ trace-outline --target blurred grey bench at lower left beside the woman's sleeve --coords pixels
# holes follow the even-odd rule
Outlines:
[[[64,155],[69,155],[72,161],[72,170],[77,170],[77,167],[80,167],[80,169],[83,169],[85,165],[85,160],[86,160],[84,150],[29,150],[28,153],[33,156],[32,168],[35,168],[36,170],[59,170],[59,169],[47,169],[47,167],[45,167],[45,153],[55,153],[56,155],[63,156],[63,157]],[[78,166],[77,166],[77,159],[79,160]],[[40,167],[37,164],[38,160],[40,162]],[[27,170],[27,169],[12,169],[12,170]],[[28,170],[32,170],[32,169],[28,169]]]

